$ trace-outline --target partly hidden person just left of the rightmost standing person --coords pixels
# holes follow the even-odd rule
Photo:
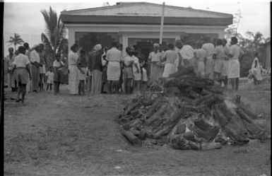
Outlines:
[[[223,69],[222,69],[222,76],[224,78],[223,83],[225,88],[227,88],[227,74],[230,67],[230,59],[227,57],[227,55],[230,52],[230,47],[227,46],[227,40],[222,40],[222,45],[224,49],[224,59],[223,59]]]

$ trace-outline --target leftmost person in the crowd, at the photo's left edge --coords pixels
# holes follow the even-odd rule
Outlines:
[[[14,74],[13,71],[13,66],[12,63],[14,61],[14,57],[15,54],[13,53],[13,47],[8,48],[8,55],[5,57],[4,62],[5,62],[5,73],[8,76],[8,88],[11,88],[11,92],[15,92],[16,91],[16,85],[15,85],[15,81],[16,81],[16,75]]]

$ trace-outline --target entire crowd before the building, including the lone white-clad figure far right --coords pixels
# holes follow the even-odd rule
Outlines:
[[[45,59],[44,45],[35,45],[30,49],[28,43],[20,46],[16,52],[8,49],[5,58],[5,73],[8,86],[18,92],[17,101],[24,101],[27,92],[38,92],[44,89],[59,93],[59,86],[64,83],[64,67],[68,64],[69,92],[71,95],[84,95],[85,90],[98,93],[141,93],[147,81],[164,83],[170,74],[189,66],[194,68],[196,76],[211,78],[227,88],[231,83],[232,90],[238,90],[240,78],[240,47],[237,37],[232,37],[230,45],[227,40],[209,38],[196,41],[194,48],[176,40],[167,49],[155,43],[148,59],[143,57],[141,49],[112,43],[112,47],[97,44],[88,52],[77,44],[71,46],[68,61],[56,54],[52,66]],[[66,64],[64,64],[66,62]],[[251,76],[254,83],[259,83],[260,65],[258,53],[254,55]],[[20,98],[22,94],[22,98]]]

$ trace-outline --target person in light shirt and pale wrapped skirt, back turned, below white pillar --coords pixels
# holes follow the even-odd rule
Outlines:
[[[109,86],[109,93],[114,93],[119,89],[119,78],[121,75],[120,61],[122,52],[117,49],[117,42],[112,43],[112,48],[107,51],[107,59],[109,64],[107,66],[107,81]]]

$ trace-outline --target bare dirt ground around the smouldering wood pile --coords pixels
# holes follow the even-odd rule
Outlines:
[[[271,84],[243,84],[236,94],[268,120],[271,133]],[[213,151],[131,146],[116,119],[132,96],[72,96],[62,86],[60,95],[29,94],[25,105],[7,100],[5,175],[271,175],[270,140]]]

